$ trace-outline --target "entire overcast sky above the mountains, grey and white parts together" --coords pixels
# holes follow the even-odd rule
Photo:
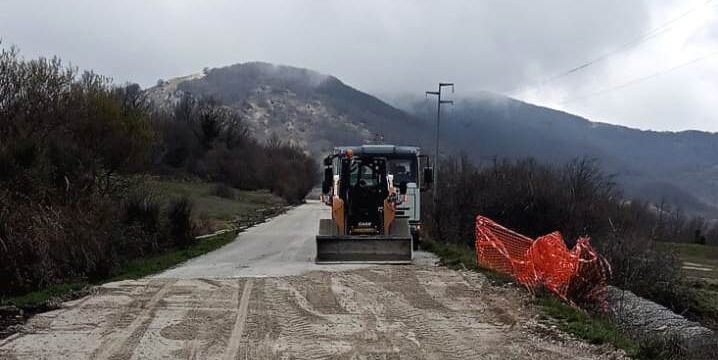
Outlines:
[[[118,83],[259,60],[377,95],[453,81],[456,96],[488,90],[596,121],[718,131],[718,0],[1,0],[0,37]]]

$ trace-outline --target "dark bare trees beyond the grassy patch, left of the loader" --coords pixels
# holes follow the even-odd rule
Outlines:
[[[268,189],[290,203],[303,201],[318,180],[315,159],[276,136],[258,143],[236,111],[213,99],[186,95],[171,115],[155,119],[162,139],[156,163],[239,189]]]

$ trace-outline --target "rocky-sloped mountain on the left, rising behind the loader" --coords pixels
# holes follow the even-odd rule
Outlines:
[[[147,89],[159,108],[181,96],[214,98],[240,112],[260,140],[278,136],[320,156],[334,145],[387,142],[422,144],[417,118],[314,71],[261,62],[206,70]]]

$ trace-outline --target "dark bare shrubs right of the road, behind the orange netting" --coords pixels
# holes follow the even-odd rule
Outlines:
[[[473,247],[477,214],[531,237],[558,230],[569,247],[589,236],[612,266],[612,284],[693,319],[715,316],[700,312],[680,262],[658,244],[676,233],[694,233],[683,229],[702,223],[626,200],[594,160],[554,166],[495,160],[479,168],[461,156],[442,164],[439,179],[437,208],[431,199],[422,202],[437,241]]]

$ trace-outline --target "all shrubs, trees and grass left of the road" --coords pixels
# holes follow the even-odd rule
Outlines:
[[[0,302],[210,251],[231,235],[197,235],[301,202],[316,176],[301,150],[254,141],[214,101],[161,113],[137,85],[0,49]]]

